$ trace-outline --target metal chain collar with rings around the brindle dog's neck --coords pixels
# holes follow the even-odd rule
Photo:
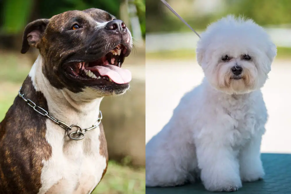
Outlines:
[[[85,134],[87,131],[90,131],[92,129],[95,129],[96,127],[98,127],[101,123],[102,120],[102,113],[100,111],[100,117],[98,117],[98,120],[95,124],[92,125],[92,127],[86,128],[86,129],[82,129],[79,125],[77,124],[73,124],[71,126],[65,124],[64,122],[55,119],[54,117],[52,117],[51,115],[49,115],[49,113],[41,108],[40,106],[36,105],[31,99],[25,98],[24,94],[21,94],[21,88],[18,91],[18,95],[29,105],[33,108],[33,110],[35,110],[36,112],[38,112],[39,114],[41,114],[42,116],[45,116],[47,118],[49,118],[50,120],[52,120],[54,123],[58,124],[59,126],[61,126],[63,129],[65,129],[67,131],[67,135],[70,139],[72,140],[81,140],[85,137]],[[72,131],[72,128],[77,128],[76,131]]]

